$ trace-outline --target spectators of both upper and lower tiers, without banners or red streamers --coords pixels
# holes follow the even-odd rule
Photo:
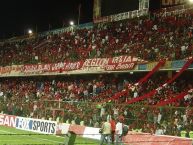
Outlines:
[[[0,65],[78,61],[118,55],[136,56],[149,61],[186,59],[193,56],[192,25],[193,15],[188,12],[5,42],[0,45]],[[143,76],[141,73],[135,76],[101,74],[1,78],[0,111],[94,127],[101,127],[103,118],[108,120],[122,116],[130,130],[139,129],[152,134],[179,136],[182,130],[193,130],[192,92],[180,101],[169,104],[170,107],[156,107],[160,101],[191,89],[191,72],[159,90],[151,99],[133,106],[125,104],[127,100],[158,88],[168,79],[166,73],[158,72],[144,84],[135,86]],[[128,86],[132,87],[121,99],[100,103],[128,89]]]

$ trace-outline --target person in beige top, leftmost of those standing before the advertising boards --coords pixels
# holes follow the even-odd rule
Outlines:
[[[101,140],[100,140],[100,145],[103,145],[104,141],[106,140],[108,145],[111,144],[111,124],[109,123],[109,119],[107,119],[102,123],[102,127],[100,129],[100,133],[101,133]]]

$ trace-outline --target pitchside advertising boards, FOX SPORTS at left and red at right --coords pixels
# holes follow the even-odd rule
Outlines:
[[[69,131],[72,131],[83,138],[95,140],[100,140],[101,136],[99,134],[99,128],[70,125],[65,123],[57,123],[56,121],[33,119],[6,114],[0,114],[0,126],[53,135],[67,134]],[[192,145],[192,140],[188,138],[136,132],[128,132],[128,134],[123,138],[123,141],[124,144],[132,145]]]

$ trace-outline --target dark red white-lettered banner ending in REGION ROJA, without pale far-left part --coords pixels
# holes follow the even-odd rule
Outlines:
[[[87,68],[100,68],[104,71],[131,70],[137,63],[146,63],[146,61],[131,57],[119,56],[113,58],[94,58],[86,59],[84,62],[61,62],[54,64],[35,64],[24,65],[25,74],[43,74],[46,72],[65,72],[73,70],[86,70]]]

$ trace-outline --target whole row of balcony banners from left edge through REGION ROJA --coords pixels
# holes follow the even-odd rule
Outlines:
[[[49,64],[28,64],[0,67],[1,75],[62,73],[74,70],[83,71],[120,71],[134,69],[136,64],[147,63],[142,59],[131,56],[113,58],[93,58],[77,62],[60,62]]]

